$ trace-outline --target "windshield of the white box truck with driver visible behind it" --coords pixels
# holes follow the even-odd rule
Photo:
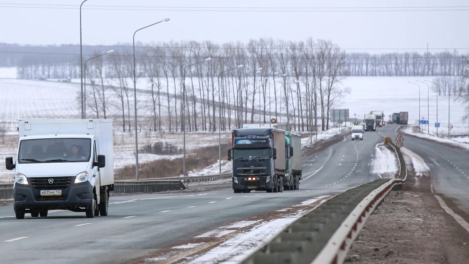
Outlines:
[[[18,163],[88,162],[91,139],[21,140]]]

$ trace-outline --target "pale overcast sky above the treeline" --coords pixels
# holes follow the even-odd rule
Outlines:
[[[40,2],[5,0],[5,2],[15,4],[0,3],[0,42],[21,44],[78,44],[80,42],[79,5],[81,0],[41,0]],[[28,8],[30,6],[21,5],[38,3],[44,6]],[[45,6],[47,4],[51,6]],[[304,40],[311,36],[314,39],[330,39],[342,48],[423,48],[426,47],[427,42],[430,48],[469,48],[469,11],[467,10],[237,12],[84,9],[86,7],[101,8],[92,7],[99,5],[171,7],[172,9],[177,7],[196,7],[196,9],[207,9],[207,7],[461,7],[469,6],[468,0],[88,0],[83,5],[82,28],[83,44],[88,45],[131,43],[132,34],[136,29],[169,17],[171,19],[169,22],[139,31],[136,34],[136,40],[144,43],[171,39],[246,42],[249,39],[261,37]],[[469,10],[469,8],[462,9]],[[469,49],[461,50],[461,52],[468,51]],[[369,52],[379,51],[369,50]]]

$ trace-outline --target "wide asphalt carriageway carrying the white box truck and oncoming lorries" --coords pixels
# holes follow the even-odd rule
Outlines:
[[[95,218],[49,211],[48,217],[27,215],[17,220],[12,206],[0,206],[1,263],[125,263],[229,222],[378,179],[371,173],[378,142],[378,132],[365,132],[364,140],[354,141],[347,135],[344,141],[303,157],[303,181],[296,191],[234,194],[226,188],[117,196],[111,197],[109,216]]]

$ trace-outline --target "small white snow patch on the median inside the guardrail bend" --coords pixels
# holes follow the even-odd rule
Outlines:
[[[378,174],[381,178],[394,178],[399,170],[395,153],[379,144],[375,149],[375,158],[371,162],[372,173]]]

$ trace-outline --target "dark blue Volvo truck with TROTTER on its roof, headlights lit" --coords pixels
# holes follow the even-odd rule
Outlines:
[[[283,192],[285,131],[275,128],[234,129],[232,142],[228,160],[233,160],[234,193],[250,193],[251,190]]]

